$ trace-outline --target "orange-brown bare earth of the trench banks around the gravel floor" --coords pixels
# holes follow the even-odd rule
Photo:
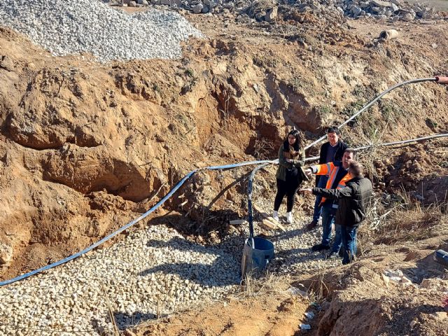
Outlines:
[[[0,28],[0,241],[13,251],[1,280],[102,239],[197,167],[274,159],[290,125],[310,143],[387,87],[448,74],[446,20],[335,25],[310,13],[269,23],[232,14],[186,18],[207,38],[185,43],[181,59],[111,64],[90,55],[52,57]],[[387,29],[398,38],[379,41]],[[343,127],[342,137],[357,147],[448,133],[446,106],[447,85],[409,85]],[[315,146],[307,156],[317,153]],[[360,230],[356,262],[269,274],[225,300],[120,332],[446,335],[447,271],[432,255],[448,249],[447,138],[374,146],[359,160],[378,202]],[[235,231],[229,220],[247,216],[250,170],[198,174],[99,248],[160,223],[197,244],[218,244]],[[255,200],[269,214],[275,167],[255,180]],[[313,197],[298,196],[296,220],[309,218],[313,204]],[[260,232],[267,239],[275,234]],[[387,269],[400,269],[411,283],[391,281]],[[307,319],[305,311],[316,316]]]

